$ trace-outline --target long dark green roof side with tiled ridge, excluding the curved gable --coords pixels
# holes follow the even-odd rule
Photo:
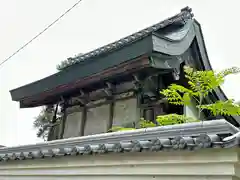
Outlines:
[[[185,22],[191,18],[191,9],[186,7],[177,15],[160,23],[81,55],[77,57],[80,60],[76,64],[58,73],[11,90],[12,100],[19,101],[21,107],[39,106],[50,101],[49,99],[57,100],[56,98],[59,98],[60,95],[70,92],[74,88],[80,88],[80,82],[80,84],[86,85],[87,82],[90,83],[89,79],[94,79],[91,80],[92,82],[96,81],[96,76],[101,76],[101,78],[98,77],[99,80],[104,79],[104,74],[111,71],[110,69],[116,71],[117,67],[125,63],[131,64],[138,57],[150,55],[153,51],[153,32],[165,30],[169,26],[184,26]],[[111,73],[108,72],[108,74]]]

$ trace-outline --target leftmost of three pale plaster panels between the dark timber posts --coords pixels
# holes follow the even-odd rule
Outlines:
[[[76,111],[67,115],[63,138],[80,135],[82,125],[82,112]]]

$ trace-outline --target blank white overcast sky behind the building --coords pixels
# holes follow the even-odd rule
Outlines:
[[[77,0],[0,0],[0,61]],[[69,56],[85,53],[172,16],[184,6],[201,23],[214,69],[240,67],[239,0],[83,0],[54,27],[0,68],[0,145],[41,141],[32,128],[39,108],[20,109],[9,90],[56,72]],[[238,80],[237,80],[238,79]],[[240,75],[224,91],[240,100]]]

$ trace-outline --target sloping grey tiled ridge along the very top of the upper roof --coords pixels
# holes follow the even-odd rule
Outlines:
[[[193,17],[192,14],[192,9],[189,7],[185,7],[183,9],[181,9],[181,12],[173,17],[170,17],[164,21],[161,21],[155,25],[152,25],[150,27],[147,27],[141,31],[138,31],[134,34],[131,34],[125,38],[122,38],[118,41],[115,41],[113,43],[110,43],[108,45],[105,45],[103,47],[97,48],[93,51],[90,51],[88,53],[85,54],[81,54],[80,56],[74,57],[74,58],[69,58],[67,61],[67,64],[64,65],[62,68],[66,68],[69,67],[73,64],[76,64],[80,61],[84,61],[87,60],[89,58],[95,57],[95,56],[100,56],[103,55],[105,53],[109,53],[111,51],[117,50],[123,46],[126,46],[128,44],[131,44],[139,39],[142,39],[148,35],[150,35],[151,33],[158,31],[159,29],[162,29],[164,27],[167,27],[171,24],[174,23],[184,23],[186,22],[188,19],[191,19]]]

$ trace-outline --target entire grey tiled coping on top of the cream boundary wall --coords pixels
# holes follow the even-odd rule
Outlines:
[[[200,126],[201,125],[201,126]],[[185,129],[192,127],[198,133]],[[225,131],[223,130],[225,127]],[[201,128],[201,129],[200,129]],[[162,130],[165,129],[165,135]],[[214,129],[219,129],[216,131]],[[228,129],[228,131],[227,131]],[[214,132],[212,131],[214,130]],[[175,131],[175,134],[174,134]],[[188,132],[188,133],[187,133]],[[219,134],[233,133],[225,120],[188,123],[182,125],[146,128],[134,131],[105,133],[69,138],[35,145],[0,148],[0,161],[38,159],[67,155],[101,154],[111,152],[141,152],[164,150],[199,150],[202,148],[240,147],[240,132],[221,139]],[[126,136],[127,135],[127,136]],[[126,138],[130,137],[130,138]],[[94,140],[95,139],[95,140]],[[84,140],[84,141],[83,141]]]

